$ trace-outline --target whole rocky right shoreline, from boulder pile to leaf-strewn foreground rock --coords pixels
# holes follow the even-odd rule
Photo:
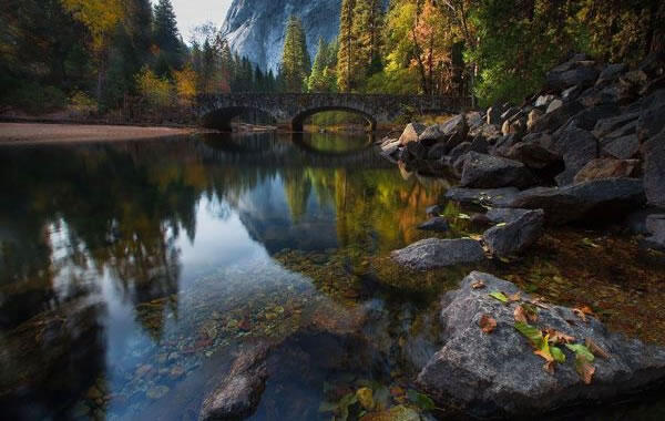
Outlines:
[[[521,106],[411,123],[399,138],[383,138],[381,154],[402,172],[459,178],[446,198],[484,208],[470,218],[490,225],[480,238],[417,242],[392,260],[430,270],[507,258],[524,254],[548,226],[566,224],[618,224],[642,248],[665,250],[663,59],[631,70],[576,54]],[[444,229],[439,210],[428,209],[421,228]],[[421,389],[440,405],[495,418],[598,403],[665,380],[665,348],[611,333],[580,309],[533,302],[509,281],[469,275],[442,298],[446,345],[418,376]],[[518,317],[523,306],[533,319]]]

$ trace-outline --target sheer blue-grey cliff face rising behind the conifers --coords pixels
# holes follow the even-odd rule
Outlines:
[[[277,71],[288,17],[303,20],[314,61],[319,37],[326,41],[337,37],[340,6],[341,0],[234,0],[222,33],[234,52],[264,70]]]

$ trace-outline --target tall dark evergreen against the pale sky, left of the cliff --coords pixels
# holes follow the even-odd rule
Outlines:
[[[158,0],[154,8],[153,41],[158,49],[155,72],[170,74],[183,65],[183,48],[171,0]]]

